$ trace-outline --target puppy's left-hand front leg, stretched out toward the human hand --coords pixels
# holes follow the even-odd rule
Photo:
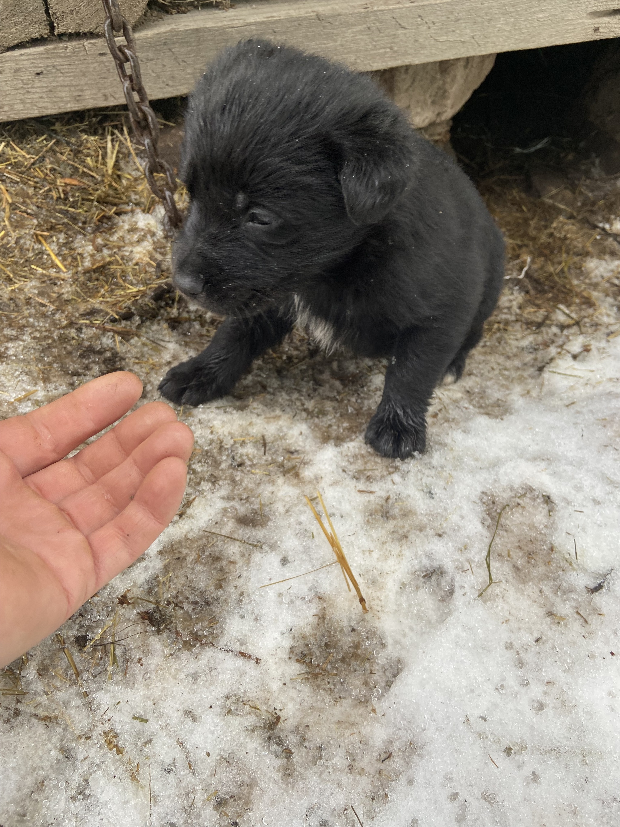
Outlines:
[[[199,405],[226,396],[256,356],[275,347],[292,327],[289,313],[279,308],[252,318],[227,318],[202,353],[168,371],[160,382],[160,393],[179,405]]]

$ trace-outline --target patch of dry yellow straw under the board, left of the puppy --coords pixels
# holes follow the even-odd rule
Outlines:
[[[156,314],[151,295],[169,275],[155,265],[167,260],[169,242],[141,220],[155,199],[123,127],[111,112],[0,126],[3,315],[27,325],[34,301],[61,326],[104,332],[97,323],[118,323],[136,308]],[[136,222],[120,220],[131,213]]]

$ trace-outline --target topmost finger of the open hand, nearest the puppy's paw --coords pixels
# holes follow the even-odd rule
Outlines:
[[[0,451],[21,476],[33,474],[116,422],[141,393],[141,381],[126,370],[99,376],[25,416],[0,422]]]

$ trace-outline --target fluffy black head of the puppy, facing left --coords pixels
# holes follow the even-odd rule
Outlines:
[[[225,314],[284,304],[346,261],[408,184],[411,130],[369,79],[247,41],[190,98],[174,283]]]

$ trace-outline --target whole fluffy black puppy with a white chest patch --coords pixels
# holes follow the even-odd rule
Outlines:
[[[267,41],[228,49],[185,122],[191,205],[174,284],[227,319],[160,384],[178,404],[230,392],[301,323],[327,348],[388,356],[366,442],[423,451],[503,283],[503,240],[460,169],[374,83]]]

